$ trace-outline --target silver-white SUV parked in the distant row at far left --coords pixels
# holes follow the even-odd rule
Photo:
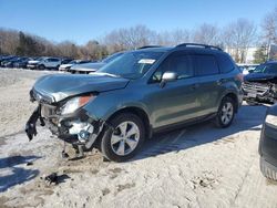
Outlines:
[[[34,61],[29,61],[27,64],[28,69],[45,70],[45,69],[59,69],[61,60],[58,58],[40,58]]]

